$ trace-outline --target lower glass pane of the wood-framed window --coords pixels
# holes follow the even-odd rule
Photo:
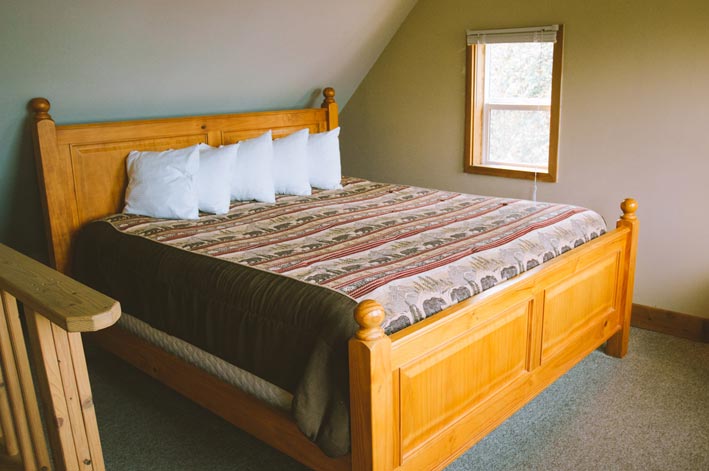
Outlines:
[[[549,111],[490,110],[488,163],[534,165],[549,160]]]

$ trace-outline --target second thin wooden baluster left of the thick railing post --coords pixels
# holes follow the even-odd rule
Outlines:
[[[5,312],[5,292],[0,291],[3,302],[0,303],[0,361],[5,375],[5,387],[10,403],[11,415],[17,435],[17,444],[22,456],[22,463],[27,471],[37,469],[30,436],[30,427],[25,414],[25,404],[20,386],[20,378],[15,364],[15,355],[7,328],[7,314]]]

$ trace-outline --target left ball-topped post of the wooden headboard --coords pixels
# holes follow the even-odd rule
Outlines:
[[[32,137],[49,244],[49,263],[60,272],[67,273],[71,234],[78,226],[78,216],[70,162],[59,158],[57,128],[49,115],[50,106],[46,98],[33,98],[29,103],[34,113]]]

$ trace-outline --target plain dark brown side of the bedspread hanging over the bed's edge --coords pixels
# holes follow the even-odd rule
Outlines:
[[[86,226],[75,247],[80,281],[151,326],[290,391],[303,433],[330,456],[349,452],[354,300],[124,234],[102,221]]]

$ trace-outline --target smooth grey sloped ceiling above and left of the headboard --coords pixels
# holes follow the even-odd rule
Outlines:
[[[347,103],[416,0],[3,0],[0,242],[41,258],[25,126]]]

